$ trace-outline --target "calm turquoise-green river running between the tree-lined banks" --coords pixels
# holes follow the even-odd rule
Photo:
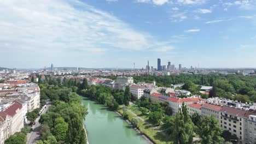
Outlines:
[[[117,113],[106,106],[82,97],[88,109],[84,124],[90,144],[146,144],[148,143]]]

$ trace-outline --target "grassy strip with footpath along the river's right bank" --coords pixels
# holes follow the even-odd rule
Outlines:
[[[128,109],[131,110],[132,112],[136,113],[136,115],[141,115],[142,114],[141,111],[136,109],[135,106],[129,106]],[[118,109],[118,112],[123,113],[123,109],[120,107]],[[132,115],[132,113],[130,113],[129,111],[127,111],[127,113],[129,115],[129,120],[131,120],[133,117],[136,117],[135,115]],[[144,134],[149,136],[155,143],[159,143],[159,144],[170,144],[170,143],[172,143],[171,140],[168,139],[168,137],[162,135],[161,133],[159,133],[158,131],[156,131],[152,127],[150,127],[150,125],[141,121],[141,119],[138,119],[138,128],[140,130],[143,130]]]

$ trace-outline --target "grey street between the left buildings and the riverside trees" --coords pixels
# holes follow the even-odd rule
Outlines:
[[[49,106],[51,106],[51,105],[49,105],[49,104],[46,105],[46,109],[44,109],[42,114],[45,113],[48,110]],[[40,140],[39,131],[40,131],[42,125],[38,122],[39,119],[40,119],[40,117],[38,117],[36,119],[37,122],[36,122],[36,124],[34,124],[33,131],[31,133],[27,134],[27,144],[36,143],[36,141]]]

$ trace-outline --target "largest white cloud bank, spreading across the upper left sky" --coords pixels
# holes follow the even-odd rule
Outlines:
[[[8,15],[0,15],[1,53],[54,57],[61,52],[63,57],[71,53],[82,57],[111,50],[147,50],[162,43],[80,1],[8,0],[0,7],[0,13]]]

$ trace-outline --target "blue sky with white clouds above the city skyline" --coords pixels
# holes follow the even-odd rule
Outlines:
[[[0,0],[0,67],[256,67],[256,0]]]

